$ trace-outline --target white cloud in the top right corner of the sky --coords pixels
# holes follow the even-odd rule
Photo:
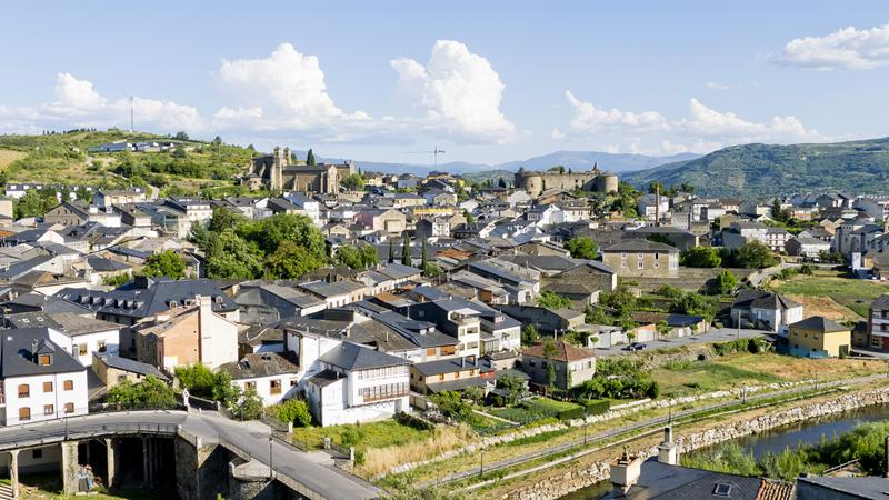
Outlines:
[[[825,37],[797,38],[773,59],[779,64],[815,70],[868,70],[889,64],[889,23],[863,30],[850,26]]]

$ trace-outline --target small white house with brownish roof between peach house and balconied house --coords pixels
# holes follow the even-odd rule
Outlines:
[[[256,352],[238,361],[219,366],[231,376],[231,384],[246,391],[253,389],[266,407],[294,398],[299,386],[299,367],[288,354]]]

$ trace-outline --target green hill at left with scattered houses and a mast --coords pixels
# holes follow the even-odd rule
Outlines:
[[[174,142],[164,152],[91,153],[114,141]],[[0,136],[0,182],[42,182],[126,188],[151,184],[163,194],[226,194],[242,189],[232,180],[252,149],[124,130]]]

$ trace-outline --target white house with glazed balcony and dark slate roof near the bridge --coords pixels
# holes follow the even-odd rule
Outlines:
[[[340,342],[318,361],[321,369],[307,379],[306,396],[322,427],[383,420],[410,409],[407,360]]]

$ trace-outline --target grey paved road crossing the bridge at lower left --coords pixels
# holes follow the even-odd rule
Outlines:
[[[11,426],[0,429],[0,451],[14,448],[58,442],[69,438],[102,437],[126,431],[176,431],[176,426],[208,442],[232,444],[254,460],[269,464],[269,436],[267,426],[258,422],[236,422],[216,412],[187,413],[184,411],[130,411],[93,413],[68,419]],[[370,499],[380,491],[358,478],[326,466],[318,456],[304,453],[278,441],[273,446],[273,468],[330,499]]]

